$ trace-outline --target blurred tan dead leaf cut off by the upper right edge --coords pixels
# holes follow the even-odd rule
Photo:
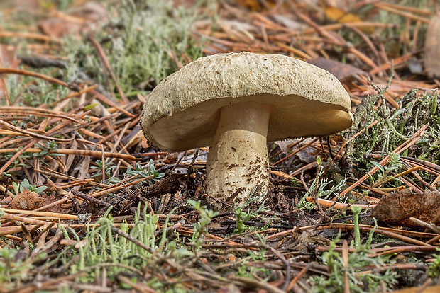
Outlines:
[[[424,42],[424,67],[429,77],[440,76],[440,16],[429,21]]]

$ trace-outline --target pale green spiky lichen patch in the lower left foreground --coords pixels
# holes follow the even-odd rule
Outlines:
[[[170,221],[170,215],[171,213],[165,219],[165,227]],[[114,231],[114,222],[109,211],[93,225],[87,225],[85,235],[81,237],[73,229],[66,231],[59,226],[64,230],[66,239],[77,240],[77,246],[65,248],[47,265],[62,262],[68,266],[71,274],[87,272],[87,275],[80,278],[80,282],[93,282],[95,275],[101,274],[103,268],[109,278],[130,272],[133,274],[133,280],[136,280],[137,274],[143,274],[143,268],[154,270],[159,268],[165,259],[180,259],[194,255],[187,248],[180,246],[178,239],[168,239],[166,229],[162,234],[157,234],[158,219],[158,216],[147,212],[147,205],[143,209],[138,205],[133,225],[129,227],[126,223],[120,224],[119,230],[128,234],[134,241],[143,243],[143,247]],[[76,260],[75,263],[72,263],[72,259]],[[155,277],[151,277],[145,285],[165,292],[165,285]],[[122,286],[129,289],[127,285]]]

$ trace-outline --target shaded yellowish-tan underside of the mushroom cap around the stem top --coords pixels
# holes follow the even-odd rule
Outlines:
[[[219,109],[236,103],[266,103],[272,107],[268,122],[269,142],[287,137],[325,136],[351,127],[352,123],[350,113],[341,105],[296,95],[253,95],[207,100],[181,112],[170,112],[169,116],[143,125],[148,130],[145,135],[156,146],[168,151],[209,146],[219,126]]]

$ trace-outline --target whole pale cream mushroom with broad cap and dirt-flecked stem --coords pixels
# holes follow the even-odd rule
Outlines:
[[[351,127],[351,101],[329,72],[280,54],[202,57],[167,76],[145,101],[141,126],[160,149],[211,145],[205,191],[211,208],[270,189],[267,142]]]

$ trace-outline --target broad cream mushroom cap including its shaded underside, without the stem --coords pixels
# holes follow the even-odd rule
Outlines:
[[[182,67],[154,88],[141,126],[167,151],[208,146],[224,105],[271,107],[268,141],[334,134],[351,127],[351,100],[335,76],[280,54],[214,54]],[[239,107],[240,105],[238,105]]]

